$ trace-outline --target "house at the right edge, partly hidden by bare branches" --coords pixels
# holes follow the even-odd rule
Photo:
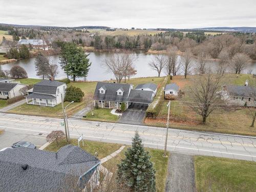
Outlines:
[[[224,85],[221,91],[222,99],[230,105],[255,106],[256,87],[248,86],[246,80],[244,86]]]

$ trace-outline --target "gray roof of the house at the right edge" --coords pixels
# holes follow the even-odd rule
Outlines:
[[[256,87],[252,86],[232,86],[226,87],[230,96],[236,97],[256,97]]]

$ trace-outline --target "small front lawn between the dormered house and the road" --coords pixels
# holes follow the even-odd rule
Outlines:
[[[99,108],[94,110],[94,116],[92,116],[91,112],[88,112],[86,114],[86,118],[89,120],[97,120],[97,121],[109,121],[109,122],[116,122],[118,120],[117,115],[111,114],[112,109],[105,109],[105,108]]]

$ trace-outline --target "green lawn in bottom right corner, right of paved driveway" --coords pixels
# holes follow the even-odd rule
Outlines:
[[[198,191],[256,191],[256,162],[196,156],[195,175]]]

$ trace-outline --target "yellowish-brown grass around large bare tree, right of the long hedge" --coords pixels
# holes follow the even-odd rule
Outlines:
[[[170,108],[170,126],[179,129],[198,130],[228,134],[254,135],[256,129],[250,127],[251,116],[245,108],[237,108],[236,106],[218,109],[207,118],[206,124],[202,124],[202,117],[191,110],[186,102],[190,101],[190,96],[187,93],[188,87],[192,85],[195,76],[188,76],[184,79],[183,76],[173,77],[172,82],[179,85],[182,91],[185,91],[185,97],[171,102]],[[226,74],[223,84],[243,85],[250,75],[242,74]],[[157,119],[146,119],[148,125],[165,126],[167,118],[167,104],[164,101],[163,107]]]

